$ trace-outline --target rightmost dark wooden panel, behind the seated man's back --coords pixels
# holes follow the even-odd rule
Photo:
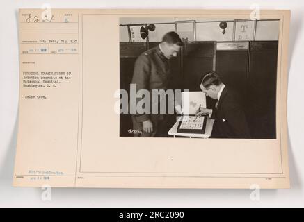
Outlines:
[[[275,139],[278,41],[250,42],[248,121],[254,138]]]

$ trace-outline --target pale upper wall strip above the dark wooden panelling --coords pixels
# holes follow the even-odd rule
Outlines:
[[[219,22],[211,22],[210,19],[200,19],[200,18],[121,18],[120,24],[154,24],[154,23],[174,23],[177,22],[177,33],[179,35],[184,31],[189,31],[193,35],[193,22],[178,24],[179,21],[195,20],[196,26],[196,40],[197,41],[232,41],[233,36],[233,25],[234,22],[227,22],[227,28],[225,28],[225,35],[222,33],[222,29],[219,27]],[[220,20],[225,21],[227,19],[223,18]],[[208,22],[207,22],[208,21]],[[217,20],[212,20],[217,21]],[[229,19],[231,21],[231,19]],[[241,25],[246,22],[237,22]],[[254,24],[250,21],[248,25],[248,33],[253,33]],[[136,33],[139,33],[140,26],[131,27],[134,28]],[[155,24],[155,30],[149,31],[150,42],[159,42],[164,34],[169,31],[175,31],[175,24]],[[239,26],[237,26],[239,27]],[[251,29],[250,29],[251,28]],[[249,30],[250,29],[250,30]],[[240,30],[240,28],[239,28]],[[252,32],[251,32],[252,30]],[[257,32],[255,40],[278,40],[279,36],[279,22],[278,21],[258,21],[257,22]],[[182,36],[181,36],[182,37]],[[237,36],[236,36],[237,37]],[[237,39],[237,38],[236,38]],[[251,38],[250,40],[253,40]],[[120,42],[129,42],[127,26],[120,26]],[[137,40],[135,42],[145,42],[145,40]]]

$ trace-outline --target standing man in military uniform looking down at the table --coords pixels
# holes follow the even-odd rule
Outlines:
[[[131,83],[136,85],[136,92],[147,89],[152,97],[152,89],[168,89],[170,79],[170,58],[176,57],[183,45],[179,35],[175,32],[166,33],[161,43],[138,56]],[[136,98],[136,104],[141,98]],[[151,98],[152,100],[152,98]],[[132,114],[134,136],[158,136],[164,114],[152,113]]]

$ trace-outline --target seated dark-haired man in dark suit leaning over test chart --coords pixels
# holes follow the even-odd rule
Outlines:
[[[250,138],[246,116],[237,94],[222,83],[216,72],[202,76],[200,89],[206,96],[218,100],[215,109],[200,108],[197,112],[197,115],[209,114],[211,119],[215,119],[211,137]]]

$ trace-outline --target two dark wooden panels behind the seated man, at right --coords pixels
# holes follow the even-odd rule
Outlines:
[[[221,42],[216,71],[239,92],[251,136],[275,139],[275,98],[278,41]]]

